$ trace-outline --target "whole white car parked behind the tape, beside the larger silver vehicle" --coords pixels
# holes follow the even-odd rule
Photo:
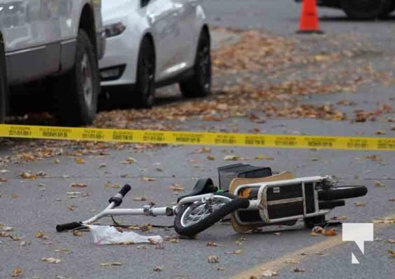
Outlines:
[[[103,0],[101,86],[123,105],[152,107],[155,88],[186,97],[211,89],[210,31],[201,0]]]

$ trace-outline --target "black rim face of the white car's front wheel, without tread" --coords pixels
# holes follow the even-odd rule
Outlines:
[[[155,82],[155,61],[151,49],[143,52],[139,72],[143,98],[148,104],[152,104],[155,98],[153,90]]]

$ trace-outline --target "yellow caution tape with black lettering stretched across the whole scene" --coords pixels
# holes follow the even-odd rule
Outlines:
[[[0,137],[42,140],[87,140],[152,144],[252,146],[292,149],[395,151],[395,138],[316,135],[258,135],[159,130],[117,130],[48,126],[0,125]]]

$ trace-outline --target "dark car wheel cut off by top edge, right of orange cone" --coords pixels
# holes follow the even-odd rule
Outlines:
[[[386,17],[391,10],[390,0],[344,0],[341,6],[347,17],[359,20],[373,20]]]

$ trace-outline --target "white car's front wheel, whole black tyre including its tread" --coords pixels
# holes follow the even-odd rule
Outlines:
[[[155,50],[148,37],[143,38],[138,52],[136,84],[129,103],[151,108],[155,102]]]

